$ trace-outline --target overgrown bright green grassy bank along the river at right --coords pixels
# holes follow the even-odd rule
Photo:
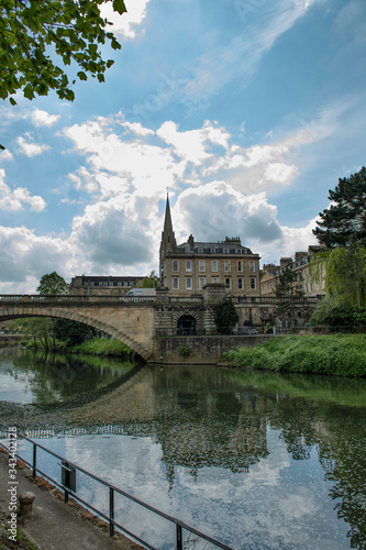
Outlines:
[[[290,336],[224,354],[229,365],[277,372],[366,376],[366,334]]]

